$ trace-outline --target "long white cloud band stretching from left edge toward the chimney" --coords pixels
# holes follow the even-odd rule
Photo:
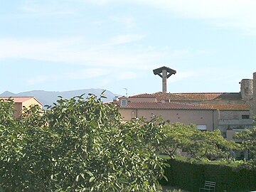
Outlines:
[[[131,42],[134,37],[136,36],[127,38],[124,36],[119,38],[119,43]],[[144,70],[162,56],[161,50],[146,48],[119,50],[119,47],[112,42],[100,44],[89,42],[84,38],[0,38],[0,60],[24,58],[75,63],[90,68],[101,66]]]

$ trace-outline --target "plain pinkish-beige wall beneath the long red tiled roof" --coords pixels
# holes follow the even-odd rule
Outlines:
[[[208,131],[213,130],[213,124],[217,122],[216,114],[212,110],[131,110],[119,109],[124,121],[132,119],[132,111],[137,117],[146,117],[149,121],[155,116],[160,116],[171,123],[205,124]],[[215,125],[216,126],[216,125]]]

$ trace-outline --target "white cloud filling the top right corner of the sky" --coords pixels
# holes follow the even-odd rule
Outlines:
[[[134,3],[171,11],[178,17],[203,19],[217,26],[256,33],[255,0],[137,0]]]

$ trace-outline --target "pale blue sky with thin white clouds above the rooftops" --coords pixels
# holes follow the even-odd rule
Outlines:
[[[0,0],[0,93],[239,92],[256,72],[254,0]]]

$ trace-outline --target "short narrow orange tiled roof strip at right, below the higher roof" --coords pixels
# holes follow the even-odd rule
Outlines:
[[[228,111],[247,111],[250,110],[250,105],[239,104],[239,105],[198,105],[201,107],[206,107],[212,110],[228,110]]]

